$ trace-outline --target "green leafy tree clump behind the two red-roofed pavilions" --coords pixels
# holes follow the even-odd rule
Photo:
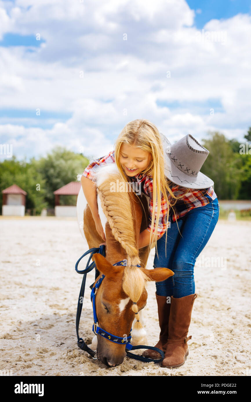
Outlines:
[[[35,209],[37,214],[45,207],[54,207],[53,191],[77,180],[89,160],[82,154],[75,154],[66,148],[56,147],[45,158],[26,158],[22,161],[15,156],[0,162],[0,191],[16,184],[27,192],[26,209]],[[65,196],[64,202],[75,203],[75,196]],[[2,209],[2,197],[0,197]]]

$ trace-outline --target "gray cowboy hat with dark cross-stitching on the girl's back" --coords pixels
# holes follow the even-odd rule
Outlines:
[[[160,133],[165,161],[165,176],[173,183],[188,189],[207,189],[214,185],[213,180],[199,170],[209,151],[192,137],[191,134],[171,144]]]

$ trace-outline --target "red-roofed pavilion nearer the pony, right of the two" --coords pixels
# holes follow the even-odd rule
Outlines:
[[[55,216],[77,216],[77,196],[81,183],[79,181],[71,181],[60,189],[53,192],[55,194]],[[76,195],[75,205],[59,205],[60,195]]]

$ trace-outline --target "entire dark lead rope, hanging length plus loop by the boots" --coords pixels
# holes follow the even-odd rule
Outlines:
[[[80,349],[82,349],[83,351],[89,353],[89,355],[91,355],[91,357],[92,357],[93,359],[97,359],[97,357],[95,357],[96,352],[93,351],[91,348],[89,348],[89,347],[86,345],[85,341],[84,341],[82,338],[79,338],[79,321],[80,321],[80,316],[81,316],[81,311],[82,311],[82,306],[83,306],[83,297],[84,297],[84,294],[85,294],[86,275],[87,275],[88,272],[91,272],[94,268],[95,268],[95,280],[96,280],[97,277],[100,275],[99,271],[98,271],[97,268],[96,268],[95,261],[93,261],[93,262],[89,265],[89,262],[90,262],[90,260],[91,260],[91,258],[92,258],[92,256],[93,256],[93,254],[96,254],[96,253],[102,254],[102,255],[105,257],[105,256],[106,256],[105,245],[102,244],[102,246],[100,246],[100,247],[93,247],[93,248],[90,248],[90,250],[88,250],[87,252],[85,252],[85,253],[77,260],[77,263],[76,263],[76,265],[75,265],[75,270],[76,270],[76,272],[77,272],[78,274],[83,275],[83,280],[82,280],[82,284],[81,284],[81,289],[80,289],[80,292],[79,292],[79,300],[78,300],[77,315],[76,315],[76,332],[77,332],[77,338],[78,338],[77,344],[78,344],[78,347],[79,347]],[[79,261],[81,261],[81,259],[82,259],[83,257],[85,257],[87,254],[90,254],[90,256],[89,256],[89,259],[88,259],[88,261],[87,261],[86,268],[83,269],[83,271],[78,271],[77,268],[78,268],[78,265],[79,265]],[[93,285],[92,285],[92,286],[93,286]],[[91,286],[91,287],[92,287],[92,286]],[[81,301],[82,301],[82,302],[81,302]],[[161,358],[160,358],[160,359],[150,359],[150,358],[147,358],[147,357],[135,355],[135,354],[133,354],[133,353],[130,352],[131,350],[135,350],[135,349],[151,349],[151,350],[154,350],[154,351],[156,351],[156,352],[158,352],[158,353],[160,354]],[[164,359],[164,357],[165,357],[164,352],[163,352],[162,350],[160,350],[160,349],[154,347],[154,346],[145,346],[145,345],[133,346],[133,345],[131,345],[131,344],[129,343],[129,344],[126,345],[126,352],[127,352],[127,356],[128,356],[128,357],[131,357],[132,359],[135,359],[135,360],[145,361],[145,362],[153,361],[154,363],[160,363],[160,362]]]

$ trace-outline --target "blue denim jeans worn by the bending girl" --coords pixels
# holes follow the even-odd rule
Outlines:
[[[156,282],[156,293],[159,296],[175,298],[195,293],[193,268],[196,258],[207,244],[219,219],[218,198],[204,207],[191,209],[176,222],[170,221],[170,228],[156,245],[154,268],[169,268],[174,272],[165,281]],[[180,233],[182,236],[180,236]],[[166,242],[166,255],[165,255]]]

